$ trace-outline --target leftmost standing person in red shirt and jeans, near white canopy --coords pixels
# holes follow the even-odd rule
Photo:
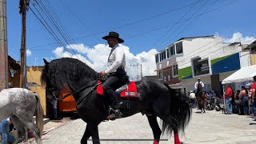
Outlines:
[[[225,94],[225,105],[226,105],[226,114],[233,114],[232,110],[232,95],[233,95],[233,90],[231,89],[230,85],[226,85],[226,91],[224,92]]]

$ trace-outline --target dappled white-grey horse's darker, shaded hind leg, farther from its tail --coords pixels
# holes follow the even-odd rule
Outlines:
[[[13,143],[18,143],[22,136],[25,138],[25,140],[27,140],[27,130],[26,127],[23,125],[22,121],[18,119],[18,117],[15,115],[11,116],[10,119],[14,123],[14,127],[16,129],[16,133],[14,133],[15,141]]]

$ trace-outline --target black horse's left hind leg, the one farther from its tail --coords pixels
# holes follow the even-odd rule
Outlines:
[[[154,134],[154,144],[158,144],[158,142],[160,141],[160,136],[161,136],[161,129],[158,125],[158,121],[157,121],[157,116],[152,115],[152,116],[148,116],[146,115],[147,119],[150,122],[150,127],[153,131]]]

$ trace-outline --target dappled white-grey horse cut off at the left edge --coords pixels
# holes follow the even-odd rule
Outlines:
[[[36,114],[36,124],[34,123]],[[0,91],[0,120],[10,117],[17,133],[15,144],[24,136],[27,138],[29,128],[38,144],[42,143],[43,111],[38,94],[22,88],[10,88]]]

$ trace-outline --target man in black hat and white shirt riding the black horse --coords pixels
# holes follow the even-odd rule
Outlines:
[[[104,90],[104,94],[108,99],[108,104],[113,109],[113,114],[110,114],[107,118],[114,119],[116,117],[121,117],[122,113],[119,110],[118,98],[114,95],[114,90],[117,90],[120,86],[122,86],[123,78],[126,77],[126,57],[124,54],[124,50],[122,47],[118,45],[118,43],[124,42],[122,38],[119,38],[119,34],[111,31],[109,35],[103,37],[111,48],[110,56],[107,61],[106,70],[102,70],[100,75],[107,75],[108,78],[106,82],[102,84],[102,88]]]

